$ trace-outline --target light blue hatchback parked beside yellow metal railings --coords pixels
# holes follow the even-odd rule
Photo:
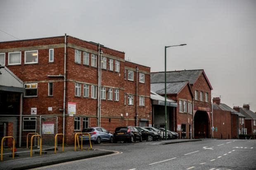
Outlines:
[[[95,144],[100,144],[100,142],[113,143],[113,135],[104,128],[101,128],[101,127],[85,128],[82,130],[82,133],[85,133],[85,132],[90,133],[91,142],[94,142]],[[81,136],[79,140],[81,140]],[[83,141],[89,141],[89,136],[83,135]]]

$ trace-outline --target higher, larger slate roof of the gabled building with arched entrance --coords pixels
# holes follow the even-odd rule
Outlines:
[[[150,82],[151,83],[160,83],[164,82],[165,72],[151,72],[150,73]],[[204,70],[179,70],[179,71],[168,71],[166,72],[167,82],[180,82],[180,81],[189,81],[190,84],[194,84],[199,76],[204,74],[207,83],[211,90],[213,89]]]

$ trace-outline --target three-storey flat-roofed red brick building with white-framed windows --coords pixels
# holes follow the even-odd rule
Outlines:
[[[64,115],[67,143],[86,127],[151,123],[150,68],[124,52],[59,36],[0,42],[0,57],[24,82],[22,114],[58,116],[58,133]]]

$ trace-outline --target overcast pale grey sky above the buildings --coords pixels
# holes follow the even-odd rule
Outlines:
[[[67,33],[164,71],[204,69],[213,97],[256,111],[255,0],[0,0],[0,30],[19,39]],[[17,40],[0,31],[0,41]]]

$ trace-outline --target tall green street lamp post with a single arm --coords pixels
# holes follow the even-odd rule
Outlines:
[[[167,140],[167,109],[166,109],[166,49],[169,47],[183,46],[187,44],[172,45],[164,47],[164,114],[165,114],[165,140]]]

